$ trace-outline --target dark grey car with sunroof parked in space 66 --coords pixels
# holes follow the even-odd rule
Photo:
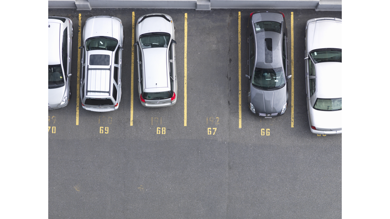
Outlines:
[[[248,23],[249,91],[252,113],[271,118],[283,115],[288,105],[287,27],[284,14],[253,12]]]

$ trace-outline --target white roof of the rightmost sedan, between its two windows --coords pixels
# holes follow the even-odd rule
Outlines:
[[[341,97],[341,62],[320,62],[315,64],[317,77],[317,98]]]

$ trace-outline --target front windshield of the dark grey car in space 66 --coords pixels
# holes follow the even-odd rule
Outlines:
[[[255,68],[252,84],[262,89],[277,89],[284,86],[282,67]]]

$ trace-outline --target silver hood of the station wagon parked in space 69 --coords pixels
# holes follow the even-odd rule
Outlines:
[[[120,20],[109,16],[89,18],[84,26],[84,41],[93,36],[110,36],[119,41],[120,23]]]

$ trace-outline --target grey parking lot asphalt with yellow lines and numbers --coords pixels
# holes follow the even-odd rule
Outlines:
[[[341,217],[342,136],[310,132],[303,74],[306,21],[342,18],[341,12],[279,10],[294,34],[288,35],[294,82],[286,113],[264,119],[246,99],[252,11],[48,10],[71,18],[75,31],[72,98],[48,112],[49,218]],[[178,101],[171,107],[143,107],[131,71],[133,13],[137,20],[153,12],[171,15],[176,27]],[[98,15],[124,26],[123,95],[109,113],[77,108],[79,17],[82,32],[85,20]]]

